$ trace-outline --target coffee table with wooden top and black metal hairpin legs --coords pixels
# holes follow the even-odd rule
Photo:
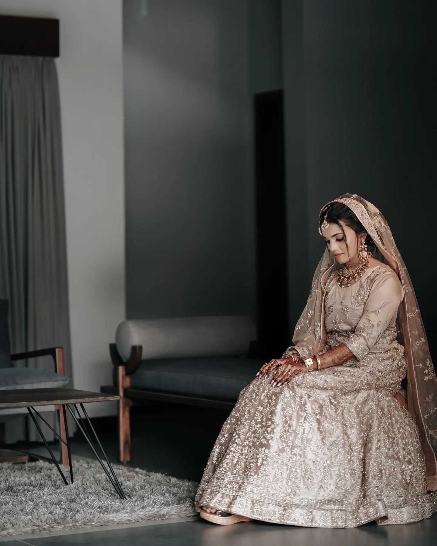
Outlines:
[[[73,467],[72,467],[72,456],[70,453],[70,443],[68,440],[68,428],[67,428],[67,413],[66,408],[72,415],[73,419],[75,420],[76,424],[78,425],[79,430],[82,432],[82,434],[85,436],[86,441],[88,444],[90,444],[91,449],[93,450],[94,454],[96,455],[99,463],[102,465],[103,470],[107,474],[111,484],[113,484],[114,489],[119,494],[120,498],[125,498],[125,494],[123,490],[121,489],[121,485],[119,480],[117,479],[115,472],[113,470],[113,467],[111,466],[104,450],[102,447],[102,444],[100,443],[100,440],[97,437],[96,431],[94,430],[94,427],[91,424],[90,418],[88,417],[88,414],[86,413],[84,403],[87,402],[103,402],[108,400],[119,400],[119,395],[110,395],[110,394],[102,394],[102,393],[92,393],[87,390],[77,390],[77,389],[67,389],[64,387],[61,388],[52,388],[52,389],[5,389],[0,391],[0,409],[3,408],[16,408],[16,407],[27,407],[27,411],[29,412],[30,416],[33,419],[33,422],[35,423],[36,428],[38,429],[38,432],[40,436],[43,438],[43,442],[45,443],[46,448],[49,450],[51,458],[53,462],[56,465],[56,468],[60,472],[62,479],[64,480],[64,483],[68,485],[67,479],[64,476],[61,467],[58,464],[58,461],[56,460],[52,450],[50,449],[49,444],[47,443],[43,431],[41,430],[35,415],[40,417],[44,423],[54,432],[54,434],[61,440],[63,444],[67,446],[68,450],[68,464],[70,467],[70,478],[71,482],[73,483]],[[92,430],[93,435],[96,438],[96,441],[102,450],[103,458],[105,462],[107,463],[109,467],[105,467],[103,464],[103,461],[99,454],[97,453],[94,444],[92,442],[91,436],[88,434],[88,430],[85,427],[85,420],[83,417],[81,417],[78,407],[76,406],[78,404],[82,412],[84,413],[86,422],[89,426],[89,428]],[[63,414],[63,421],[66,431],[66,439],[65,442],[60,435],[57,434],[57,432],[52,429],[52,427],[49,425],[48,422],[44,419],[42,415],[40,415],[36,409],[35,406],[51,406],[51,405],[60,405],[62,406],[62,414]],[[74,406],[76,413],[78,414],[78,417],[75,416],[72,408],[70,405]]]

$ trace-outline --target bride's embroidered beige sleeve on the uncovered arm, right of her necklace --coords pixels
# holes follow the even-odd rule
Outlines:
[[[398,313],[404,289],[393,271],[385,270],[371,281],[369,296],[355,331],[344,341],[358,361],[375,345]]]

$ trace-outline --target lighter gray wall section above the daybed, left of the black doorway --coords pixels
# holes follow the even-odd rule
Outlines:
[[[246,2],[124,2],[127,317],[255,313]]]

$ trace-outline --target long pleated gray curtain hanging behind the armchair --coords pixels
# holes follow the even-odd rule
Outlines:
[[[71,378],[62,169],[55,61],[0,56],[0,294],[10,302],[11,351],[62,346]],[[15,365],[54,370],[50,357]],[[58,431],[55,413],[44,416]],[[5,425],[7,443],[27,431],[40,441],[29,416]]]

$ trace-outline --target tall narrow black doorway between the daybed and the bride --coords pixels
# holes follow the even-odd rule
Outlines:
[[[270,360],[290,345],[282,91],[255,95],[255,202],[258,343]]]

